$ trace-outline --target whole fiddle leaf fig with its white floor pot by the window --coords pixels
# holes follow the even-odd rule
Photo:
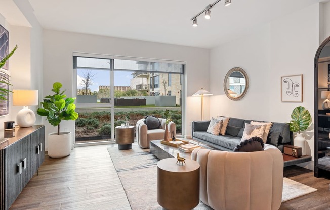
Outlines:
[[[62,84],[55,82],[52,92],[42,102],[43,108],[37,109],[40,116],[46,116],[46,120],[52,125],[57,126],[57,132],[48,134],[48,155],[51,158],[62,158],[71,153],[72,137],[71,132],[60,132],[62,120],[75,120],[78,113],[75,112],[75,98],[66,98],[64,91],[61,92]]]

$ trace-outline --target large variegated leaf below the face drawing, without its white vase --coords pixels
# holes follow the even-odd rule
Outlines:
[[[306,130],[312,122],[312,117],[308,110],[304,107],[296,107],[291,113],[292,120],[290,121],[289,128],[293,132]]]

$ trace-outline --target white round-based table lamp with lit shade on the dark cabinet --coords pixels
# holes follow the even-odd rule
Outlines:
[[[35,123],[35,114],[27,106],[39,104],[38,90],[13,90],[13,105],[23,106],[17,113],[16,123],[19,127],[31,127]]]

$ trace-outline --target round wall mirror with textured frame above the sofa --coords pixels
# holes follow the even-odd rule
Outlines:
[[[246,72],[239,67],[229,70],[226,74],[223,88],[229,99],[242,99],[249,88],[249,78],[247,78]]]

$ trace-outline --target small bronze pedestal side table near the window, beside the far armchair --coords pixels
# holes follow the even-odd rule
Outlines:
[[[134,143],[134,126],[128,128],[116,126],[116,144],[118,144],[118,149],[132,149],[132,143]]]

